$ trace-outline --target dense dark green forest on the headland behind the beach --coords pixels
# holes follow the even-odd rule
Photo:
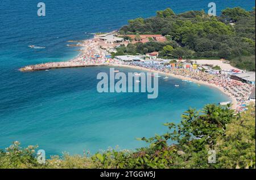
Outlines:
[[[160,56],[170,58],[224,58],[238,68],[255,71],[255,8],[226,8],[220,16],[209,16],[203,10],[176,15],[167,8],[152,18],[129,20],[119,33],[125,38],[159,34],[168,41],[121,46],[113,55],[159,51]]]

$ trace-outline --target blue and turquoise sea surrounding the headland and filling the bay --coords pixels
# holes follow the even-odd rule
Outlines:
[[[162,124],[179,122],[189,106],[228,100],[217,89],[188,84],[179,79],[159,79],[159,97],[148,100],[145,93],[97,92],[98,72],[107,67],[66,68],[19,72],[34,63],[66,61],[78,53],[68,40],[83,40],[93,32],[120,28],[127,20],[150,17],[171,7],[176,13],[208,11],[211,1],[195,0],[76,0],[49,1],[46,16],[37,16],[32,0],[0,1],[0,148],[18,140],[38,144],[47,156],[84,149],[119,146],[135,149],[144,145],[135,138],[167,131]],[[216,0],[217,13],[226,7],[251,10],[251,0]],[[28,45],[46,46],[30,49]],[[123,72],[133,72],[119,68]],[[180,84],[175,88],[174,84]]]

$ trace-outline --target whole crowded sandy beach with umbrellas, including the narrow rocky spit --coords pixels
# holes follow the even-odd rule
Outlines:
[[[106,49],[102,49],[101,44],[104,42],[106,42],[106,40],[100,40],[99,38],[79,42],[80,46],[83,48],[81,50],[81,54],[70,61],[48,62],[39,65],[30,65],[20,68],[20,71],[48,71],[51,68],[109,65],[156,71],[166,75],[175,76],[176,78],[183,79],[183,81],[212,85],[213,87],[220,89],[222,92],[229,95],[230,98],[232,98],[232,108],[236,109],[237,112],[246,110],[246,104],[249,103],[249,97],[255,88],[255,84],[234,80],[230,78],[230,74],[212,74],[209,73],[209,71],[202,71],[200,68],[201,65],[196,65],[195,63],[193,64],[193,62],[179,63],[179,66],[173,66],[164,59],[148,59],[145,56],[129,56],[129,61],[125,61],[125,59],[118,57],[111,58],[108,51]],[[108,43],[109,40],[106,44]],[[110,44],[112,44],[112,42],[110,42]]]

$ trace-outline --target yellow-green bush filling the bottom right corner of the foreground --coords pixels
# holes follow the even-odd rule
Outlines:
[[[255,106],[251,104],[239,119],[233,119],[217,141],[216,168],[255,169]]]

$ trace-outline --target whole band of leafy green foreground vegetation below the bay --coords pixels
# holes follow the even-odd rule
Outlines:
[[[45,164],[38,163],[36,146],[21,148],[14,142],[0,151],[0,168],[255,168],[255,105],[234,114],[228,106],[209,104],[184,112],[178,125],[164,126],[168,128],[165,134],[139,139],[148,146],[135,151],[65,153]],[[216,159],[210,158],[212,150]]]

